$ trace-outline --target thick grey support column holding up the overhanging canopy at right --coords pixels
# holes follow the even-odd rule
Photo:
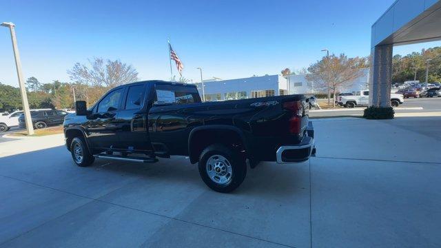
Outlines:
[[[393,45],[377,45],[371,50],[369,72],[369,106],[391,106]]]

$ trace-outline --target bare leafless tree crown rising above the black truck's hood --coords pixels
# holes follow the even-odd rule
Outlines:
[[[138,72],[132,67],[119,60],[104,61],[101,58],[88,59],[88,65],[75,63],[72,70],[68,70],[70,79],[79,83],[92,86],[115,87],[124,83],[138,81]]]

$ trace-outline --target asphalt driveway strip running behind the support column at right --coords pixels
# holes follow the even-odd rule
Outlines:
[[[407,110],[411,107],[422,107],[422,110]],[[309,112],[309,117],[325,117],[325,116],[361,116],[365,107],[356,107],[348,110],[341,108],[341,111],[330,110],[320,112]],[[396,113],[418,113],[418,112],[441,112],[441,97],[438,98],[417,98],[404,99],[404,103],[400,107],[395,108]]]

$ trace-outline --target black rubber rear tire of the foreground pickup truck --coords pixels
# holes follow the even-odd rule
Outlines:
[[[226,162],[222,161],[223,158],[220,157],[225,158]],[[218,161],[215,164],[218,166],[217,164],[220,163],[220,165],[218,167],[207,165],[209,161]],[[233,149],[222,144],[209,145],[205,148],[202,151],[201,156],[199,156],[198,167],[199,174],[201,174],[204,183],[210,189],[220,193],[232,192],[239,187],[247,175],[247,163],[245,162],[245,158],[240,156],[238,152],[235,152]],[[209,176],[209,167],[211,167],[213,174],[217,175],[217,173],[222,174],[225,172],[225,176],[222,177],[229,179],[223,183],[215,182],[216,179],[212,179],[212,177]],[[225,169],[222,169],[223,167],[225,167]],[[219,171],[216,169],[219,169]],[[230,172],[231,174],[228,177]],[[214,178],[216,178],[216,176],[214,176]],[[218,176],[218,178],[220,177]],[[220,182],[220,179],[218,181]]]

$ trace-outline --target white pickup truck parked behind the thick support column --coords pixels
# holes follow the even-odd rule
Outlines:
[[[402,94],[391,93],[391,106],[398,107],[404,103]],[[338,96],[338,105],[343,107],[356,107],[369,105],[369,90],[353,92],[353,96]]]

